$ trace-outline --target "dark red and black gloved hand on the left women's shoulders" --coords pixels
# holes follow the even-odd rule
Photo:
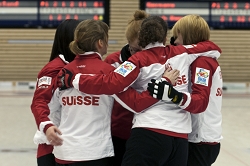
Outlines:
[[[73,87],[73,73],[68,69],[62,68],[57,74],[57,86],[60,90],[65,90],[67,88]]]

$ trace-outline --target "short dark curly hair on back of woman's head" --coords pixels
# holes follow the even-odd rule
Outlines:
[[[167,31],[167,22],[159,16],[149,16],[141,24],[138,44],[142,48],[145,48],[150,43],[164,43]]]

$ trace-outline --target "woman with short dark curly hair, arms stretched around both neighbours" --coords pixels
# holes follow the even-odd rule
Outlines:
[[[112,95],[132,85],[138,92],[143,92],[151,79],[162,77],[169,59],[180,61],[179,65],[187,69],[200,55],[216,58],[220,55],[218,47],[210,41],[192,47],[165,47],[167,30],[167,24],[161,17],[149,16],[142,22],[139,32],[138,44],[142,51],[108,74],[86,75],[63,69],[58,76],[64,79],[60,79],[58,86],[74,87],[88,94]],[[188,75],[187,72],[182,74]],[[179,84],[179,89],[188,91],[186,80]],[[166,107],[165,102],[158,101],[142,113],[135,114],[122,165],[186,165],[190,132],[191,117],[188,112],[173,103],[169,102]]]

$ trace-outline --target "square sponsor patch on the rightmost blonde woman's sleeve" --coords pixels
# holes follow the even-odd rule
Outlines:
[[[208,86],[209,74],[209,70],[197,67],[195,72],[194,83]]]

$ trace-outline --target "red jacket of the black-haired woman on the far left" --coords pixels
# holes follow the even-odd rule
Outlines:
[[[47,63],[38,73],[37,85],[34,92],[31,110],[35,117],[38,129],[43,132],[44,124],[52,124],[49,119],[50,110],[48,103],[50,102],[54,90],[57,88],[54,84],[58,72],[67,64],[63,55],[55,58]],[[39,132],[39,131],[38,131]],[[46,144],[38,146],[37,157],[52,153],[53,147]]]

